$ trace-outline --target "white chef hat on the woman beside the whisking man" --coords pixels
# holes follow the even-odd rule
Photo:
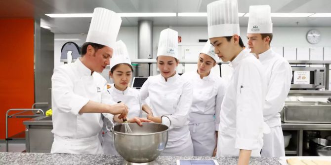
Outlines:
[[[116,42],[113,57],[110,59],[110,69],[118,64],[131,65],[129,53],[127,52],[126,45],[122,40]]]

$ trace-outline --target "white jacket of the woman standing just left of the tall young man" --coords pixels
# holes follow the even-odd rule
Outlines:
[[[193,100],[190,108],[190,124],[214,122],[219,127],[219,112],[225,95],[225,82],[210,70],[209,75],[200,78],[197,71],[182,75],[193,86]],[[215,120],[213,118],[215,115]]]

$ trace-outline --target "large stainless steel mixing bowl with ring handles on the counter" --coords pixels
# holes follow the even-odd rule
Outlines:
[[[116,151],[127,162],[154,161],[165,149],[169,127],[159,123],[129,123],[129,127],[132,133],[125,133],[124,124],[111,128]]]

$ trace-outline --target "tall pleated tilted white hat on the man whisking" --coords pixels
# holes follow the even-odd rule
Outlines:
[[[122,19],[114,11],[97,7],[94,8],[86,42],[93,42],[113,48]]]

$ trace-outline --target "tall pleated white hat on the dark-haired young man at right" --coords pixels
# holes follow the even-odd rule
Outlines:
[[[207,5],[208,37],[240,35],[237,0],[217,0]]]

